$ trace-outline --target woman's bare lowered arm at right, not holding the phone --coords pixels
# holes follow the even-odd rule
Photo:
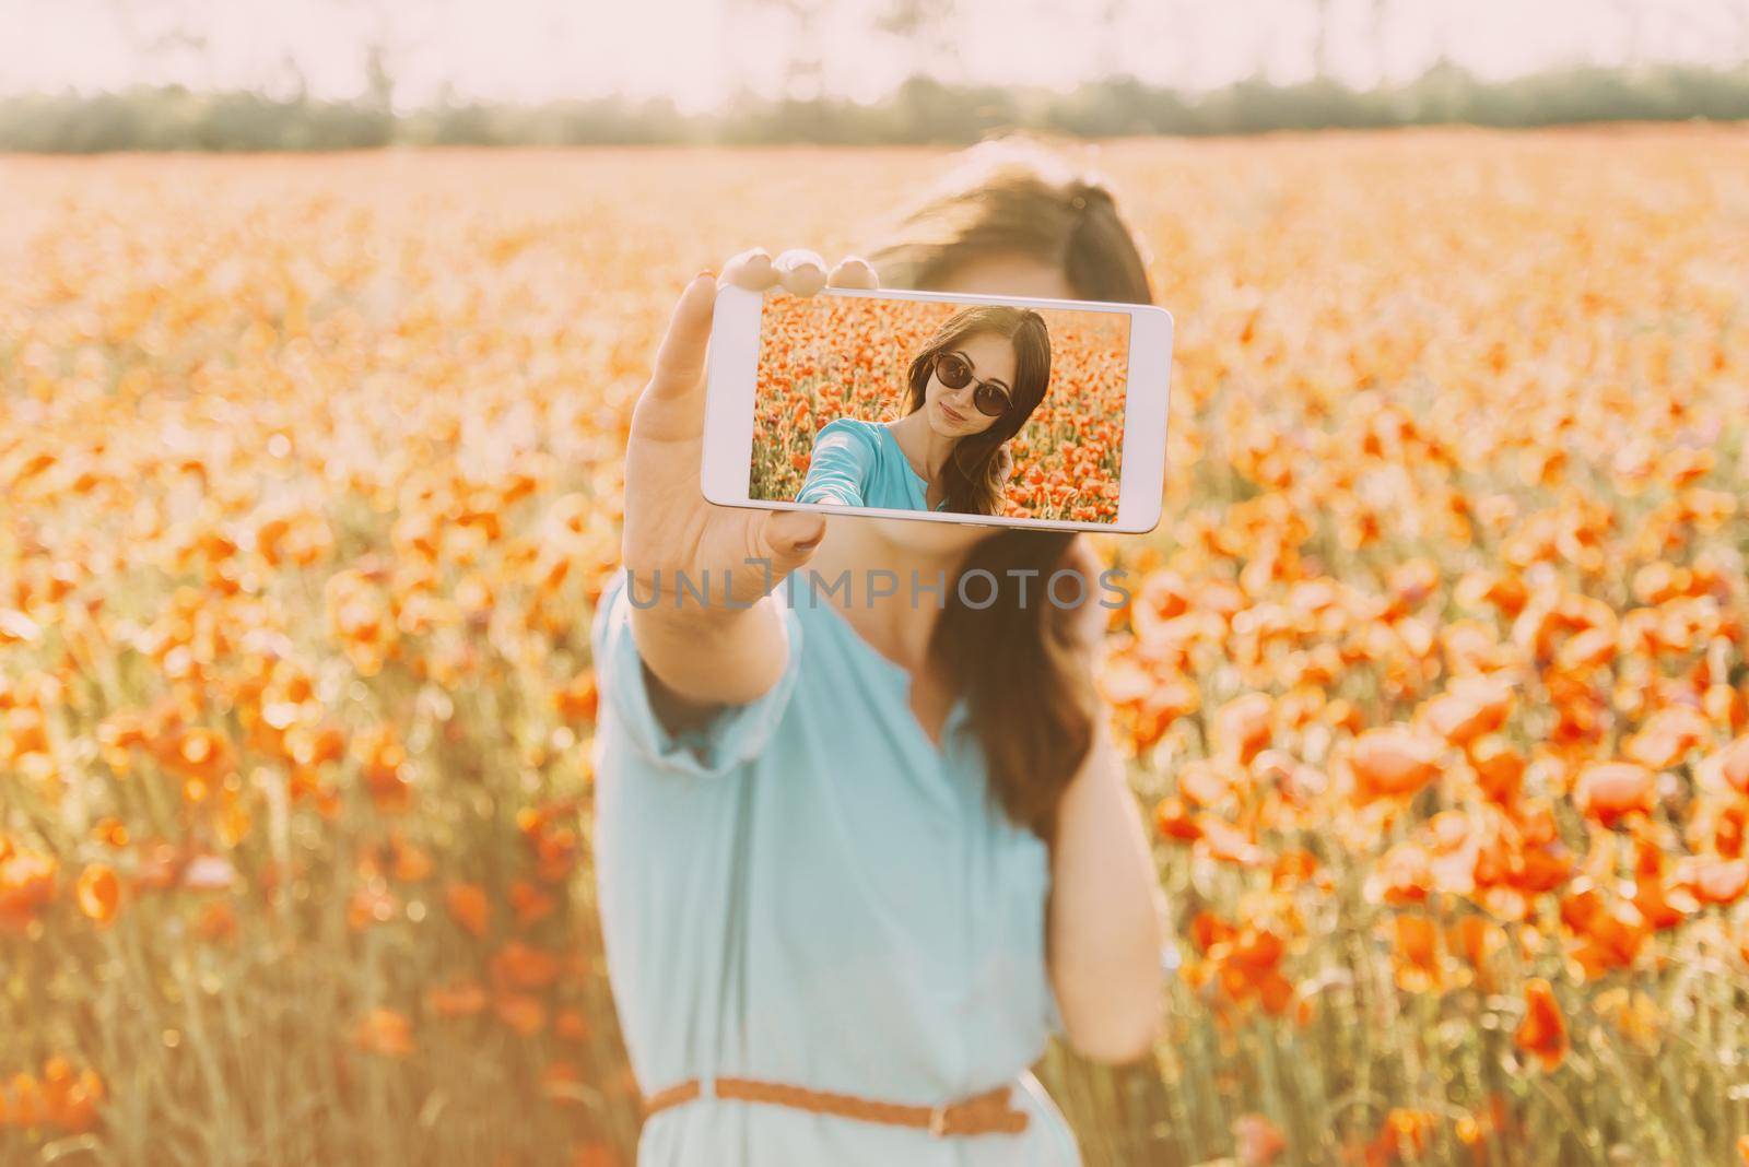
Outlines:
[[[1097,561],[1081,550],[1091,596]],[[1090,601],[1083,615],[1091,667],[1105,610]],[[1046,917],[1051,984],[1077,1052],[1128,1062],[1153,1048],[1165,1012],[1165,929],[1147,830],[1100,706],[1093,746],[1058,807]]]

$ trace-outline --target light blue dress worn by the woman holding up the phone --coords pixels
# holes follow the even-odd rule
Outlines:
[[[964,699],[930,742],[909,673],[785,577],[782,678],[672,735],[617,571],[591,641],[595,874],[614,1006],[645,1095],[712,1074],[937,1106],[1011,1083],[1018,1134],[743,1099],[651,1115],[638,1167],[1077,1167],[1028,1067],[1062,1015],[1049,854],[986,804]],[[812,599],[810,599],[812,597]]]

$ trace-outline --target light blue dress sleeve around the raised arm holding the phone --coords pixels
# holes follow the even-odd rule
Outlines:
[[[703,723],[673,734],[651,704],[651,676],[631,636],[626,573],[616,571],[602,589],[589,629],[596,692],[602,694],[596,732],[623,734],[651,765],[698,777],[724,774],[756,758],[789,708],[801,669],[801,617],[782,597],[778,611],[784,613],[789,653],[777,683],[750,702],[719,706]]]

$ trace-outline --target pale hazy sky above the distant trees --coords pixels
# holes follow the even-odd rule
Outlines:
[[[1483,77],[1590,61],[1749,59],[1749,0],[922,0],[946,16],[880,33],[895,0],[0,0],[0,93],[136,82],[322,98],[366,87],[369,45],[395,105],[668,96],[705,112],[738,87],[873,101],[913,72],[1069,89],[1128,72],[1205,91],[1326,63],[1366,87],[1441,51]],[[817,12],[803,26],[792,12]],[[808,63],[815,63],[808,68]]]

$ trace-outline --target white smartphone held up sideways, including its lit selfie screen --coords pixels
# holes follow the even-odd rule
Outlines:
[[[1170,372],[1151,304],[726,285],[700,486],[721,507],[1151,531]]]

